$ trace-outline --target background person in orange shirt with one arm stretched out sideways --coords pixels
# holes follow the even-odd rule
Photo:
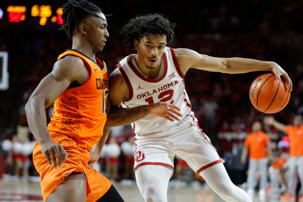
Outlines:
[[[289,152],[290,158],[286,164],[288,167],[288,190],[287,193],[281,196],[281,200],[295,201],[295,189],[294,183],[296,173],[298,172],[300,182],[303,184],[303,121],[302,116],[297,115],[294,117],[293,125],[284,125],[276,121],[272,116],[264,118],[264,123],[274,126],[279,131],[284,132],[289,137]],[[303,190],[302,197],[299,202],[303,202]]]

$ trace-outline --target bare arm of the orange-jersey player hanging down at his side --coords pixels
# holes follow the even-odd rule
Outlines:
[[[42,154],[55,168],[57,165],[61,167],[62,161],[67,158],[67,153],[61,144],[52,142],[47,129],[45,108],[51,105],[72,81],[83,79],[85,82],[87,70],[80,58],[79,60],[76,57],[67,57],[57,61],[52,72],[42,79],[25,105],[28,126],[40,144]],[[79,63],[83,67],[79,67]],[[83,75],[86,75],[86,78]]]

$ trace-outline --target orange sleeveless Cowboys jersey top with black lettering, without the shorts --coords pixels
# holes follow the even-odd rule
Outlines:
[[[65,134],[76,140],[86,150],[102,137],[106,121],[105,103],[108,96],[108,78],[105,63],[96,58],[88,58],[81,52],[68,49],[58,60],[66,55],[74,55],[82,59],[88,70],[88,78],[84,84],[76,88],[66,89],[56,100],[51,123],[48,130]]]

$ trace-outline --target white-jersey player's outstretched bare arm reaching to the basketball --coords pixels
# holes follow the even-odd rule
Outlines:
[[[251,71],[272,71],[277,81],[284,77],[288,90],[292,89],[292,81],[288,74],[275,62],[260,61],[248,58],[215,58],[208,55],[201,55],[196,51],[177,48],[174,49],[178,64],[185,75],[189,68],[196,68],[206,71],[215,71],[229,74],[247,73]]]

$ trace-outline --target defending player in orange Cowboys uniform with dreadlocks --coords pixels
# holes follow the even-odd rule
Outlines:
[[[106,65],[95,57],[109,37],[106,18],[96,5],[72,0],[64,5],[62,18],[62,29],[72,39],[72,49],[59,55],[52,72],[42,79],[25,108],[37,140],[33,162],[41,176],[43,199],[122,202],[110,181],[88,168],[88,151],[99,140],[96,146],[102,147],[108,135],[108,130],[103,130],[108,98]],[[54,101],[54,116],[46,127],[45,108]],[[148,114],[172,120],[173,108],[166,103],[121,108],[113,117],[125,123]],[[112,124],[120,123],[114,120]]]

